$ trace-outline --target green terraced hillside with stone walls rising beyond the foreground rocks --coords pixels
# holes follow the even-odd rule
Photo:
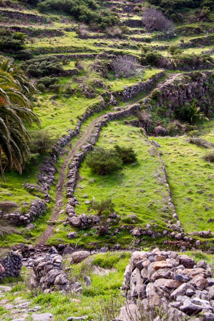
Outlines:
[[[18,234],[3,235],[1,246],[129,248],[184,240],[191,248],[199,240],[212,250],[213,163],[202,159],[205,148],[187,142],[196,130],[213,142],[211,4],[168,12],[152,1],[84,5],[87,14],[57,1],[0,3],[1,55],[36,85],[31,101],[40,121],[40,128],[27,125],[33,143],[22,174],[3,164],[0,201],[18,207],[2,217]],[[167,21],[148,25],[151,8],[171,19],[168,30]],[[123,57],[133,59],[129,75],[116,72]],[[189,120],[193,103],[209,121]],[[52,150],[35,147],[43,136]],[[116,144],[133,148],[136,161],[112,174],[93,172],[92,146]],[[93,199],[111,199],[116,214],[97,216],[88,209]]]

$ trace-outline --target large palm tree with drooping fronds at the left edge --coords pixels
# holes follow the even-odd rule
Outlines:
[[[0,173],[4,180],[2,156],[6,166],[21,174],[26,158],[30,156],[28,134],[24,123],[39,124],[27,95],[35,91],[23,71],[7,59],[0,60]],[[4,180],[5,182],[5,180]]]

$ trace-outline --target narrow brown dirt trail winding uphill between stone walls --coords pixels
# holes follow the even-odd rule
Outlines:
[[[174,76],[174,74],[170,75],[170,77],[168,77],[167,80],[169,80],[169,78],[172,78],[173,76]],[[154,88],[156,88],[156,87],[154,87]],[[148,91],[141,98],[138,98],[137,100],[134,100],[133,102],[127,104],[126,106],[127,107],[132,106],[132,105],[136,104],[138,101],[140,101],[141,99],[149,96],[154,88],[152,88],[150,91]],[[104,117],[105,115],[109,114],[109,113],[114,113],[114,111],[109,111],[108,113],[97,117],[96,119],[94,119],[90,123],[90,125],[86,129],[86,132],[83,134],[82,137],[80,137],[78,142],[73,146],[73,148],[72,148],[71,152],[69,153],[69,155],[64,160],[64,163],[63,163],[63,165],[61,167],[61,172],[60,172],[59,187],[57,188],[57,192],[56,192],[56,202],[54,204],[54,209],[53,209],[53,213],[51,215],[50,221],[56,221],[58,219],[59,212],[60,212],[62,206],[64,205],[62,203],[62,192],[63,192],[63,186],[64,186],[65,172],[66,172],[66,167],[67,167],[68,162],[74,156],[74,154],[76,153],[78,147],[81,146],[83,144],[83,142],[86,140],[86,138],[90,135],[91,129],[98,122],[98,120],[100,118]],[[40,238],[37,246],[45,245],[47,240],[49,239],[49,237],[53,234],[53,230],[54,230],[54,225],[48,225],[47,229],[42,233],[41,238]]]

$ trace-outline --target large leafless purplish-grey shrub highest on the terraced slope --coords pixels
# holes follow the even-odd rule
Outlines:
[[[173,26],[171,20],[167,19],[163,13],[154,8],[145,9],[143,11],[142,22],[145,25],[146,29],[152,30],[170,30]]]

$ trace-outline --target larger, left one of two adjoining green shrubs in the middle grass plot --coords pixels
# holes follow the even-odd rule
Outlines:
[[[95,148],[89,153],[87,166],[96,174],[110,174],[122,168],[123,162],[114,149]]]

